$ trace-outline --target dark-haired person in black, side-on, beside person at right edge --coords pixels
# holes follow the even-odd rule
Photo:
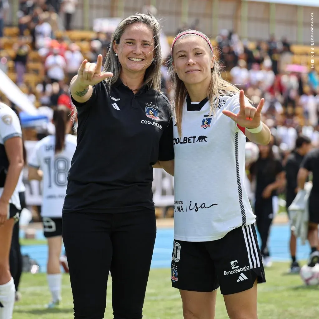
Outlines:
[[[296,147],[288,156],[285,171],[286,171],[286,209],[291,205],[298,192],[297,175],[300,164],[304,156],[309,152],[311,140],[307,136],[300,135],[296,139]],[[300,266],[296,260],[296,237],[293,231],[290,232],[290,255],[292,263],[290,266],[291,273],[299,273]]]

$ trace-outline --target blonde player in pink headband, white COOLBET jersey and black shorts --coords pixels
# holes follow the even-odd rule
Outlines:
[[[244,188],[245,141],[268,144],[271,133],[261,122],[264,100],[252,107],[220,70],[206,35],[176,36],[171,279],[184,318],[214,318],[220,286],[230,318],[256,319],[256,284],[265,275]]]

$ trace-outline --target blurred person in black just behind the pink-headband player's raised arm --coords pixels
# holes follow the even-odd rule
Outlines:
[[[278,209],[277,189],[285,183],[285,172],[281,162],[274,157],[272,144],[258,147],[259,158],[250,167],[250,180],[256,178],[256,227],[261,237],[263,264],[270,267],[271,258],[267,241],[272,220]]]

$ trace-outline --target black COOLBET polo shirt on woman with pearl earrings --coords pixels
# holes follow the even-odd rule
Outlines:
[[[148,87],[134,94],[118,80],[93,86],[78,110],[78,138],[63,212],[128,212],[154,208],[153,168],[174,159],[171,107]]]

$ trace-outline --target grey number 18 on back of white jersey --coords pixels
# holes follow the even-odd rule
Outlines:
[[[56,186],[66,186],[68,184],[68,171],[70,167],[69,159],[65,157],[56,157],[53,161],[52,167],[52,159],[51,157],[46,157],[44,162],[48,165],[49,171],[49,185],[48,188],[52,187],[52,178],[51,178],[51,170],[54,169],[54,183]]]

